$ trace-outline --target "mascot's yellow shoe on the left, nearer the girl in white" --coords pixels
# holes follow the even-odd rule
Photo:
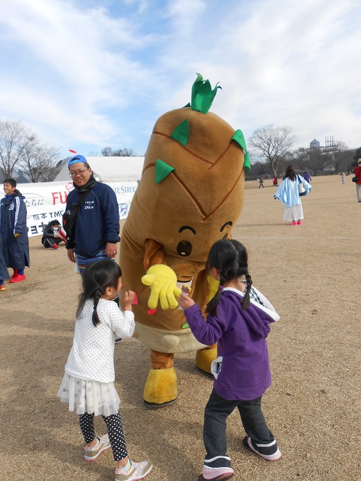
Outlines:
[[[151,369],[145,383],[143,398],[147,407],[165,407],[178,396],[175,368]]]

